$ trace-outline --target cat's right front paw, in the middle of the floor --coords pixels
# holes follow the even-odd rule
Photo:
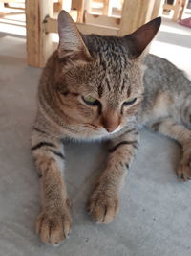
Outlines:
[[[88,212],[96,223],[109,223],[114,220],[119,210],[117,193],[97,188],[88,202]]]

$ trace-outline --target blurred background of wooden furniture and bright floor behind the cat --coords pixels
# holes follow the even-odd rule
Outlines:
[[[126,35],[161,15],[150,51],[176,63],[182,58],[181,65],[189,69],[185,62],[191,46],[191,0],[0,0],[1,45],[5,42],[1,54],[6,49],[11,54],[9,44],[20,41],[27,45],[19,50],[27,63],[44,66],[56,48],[56,18],[62,9],[70,12],[82,33],[99,35]]]

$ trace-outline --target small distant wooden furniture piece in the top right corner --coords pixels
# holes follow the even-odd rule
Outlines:
[[[164,4],[163,9],[173,10],[173,20],[179,21],[182,18],[183,12],[188,4],[188,0],[175,0],[173,5]]]

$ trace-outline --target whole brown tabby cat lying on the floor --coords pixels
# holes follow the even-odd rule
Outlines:
[[[81,35],[71,16],[60,12],[59,45],[39,83],[32,131],[42,189],[36,231],[44,243],[59,244],[72,228],[63,178],[66,138],[110,141],[106,168],[88,202],[96,223],[117,216],[121,183],[144,125],[180,142],[178,176],[191,178],[191,81],[167,60],[143,54],[160,22],[156,18],[123,37]]]

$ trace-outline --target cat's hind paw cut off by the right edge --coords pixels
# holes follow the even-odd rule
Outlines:
[[[180,167],[177,173],[181,181],[187,181],[191,179],[191,152],[190,151],[183,153],[183,158],[180,162]]]

